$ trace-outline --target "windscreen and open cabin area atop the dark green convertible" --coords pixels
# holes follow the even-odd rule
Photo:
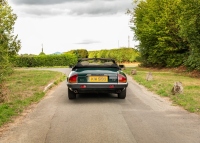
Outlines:
[[[118,68],[121,69],[114,59],[109,58],[82,58],[78,59],[77,64],[72,68]]]

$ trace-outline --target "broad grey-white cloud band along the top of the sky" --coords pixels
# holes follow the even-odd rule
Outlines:
[[[52,15],[113,15],[117,13],[125,13],[132,5],[130,1],[122,0],[87,0],[85,1],[52,1],[52,4],[45,1],[20,1],[21,3],[13,4],[20,14],[52,16]],[[11,0],[16,2],[16,0]],[[37,3],[36,3],[37,2]],[[39,3],[40,2],[40,3]],[[63,3],[62,3],[63,2]],[[35,3],[32,5],[32,3]]]

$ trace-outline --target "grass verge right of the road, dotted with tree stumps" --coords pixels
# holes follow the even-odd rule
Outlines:
[[[136,69],[137,74],[131,75],[131,70]],[[149,69],[141,67],[128,67],[124,70],[139,84],[145,86],[148,90],[163,96],[169,97],[174,105],[180,105],[184,109],[200,114],[200,80],[199,78],[189,77],[184,73],[176,73],[173,70],[165,69]],[[152,81],[146,81],[146,75],[151,72]],[[184,91],[181,94],[172,95],[171,89],[174,82],[181,81]]]

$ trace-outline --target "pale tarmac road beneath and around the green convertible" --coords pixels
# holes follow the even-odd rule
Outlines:
[[[115,94],[68,100],[62,82],[5,131],[0,143],[200,143],[199,115],[172,106],[131,77],[128,82],[124,100]]]

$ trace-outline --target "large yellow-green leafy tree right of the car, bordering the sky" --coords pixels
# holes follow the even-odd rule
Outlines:
[[[137,1],[138,2],[138,1]],[[176,67],[189,53],[186,40],[179,35],[180,0],[141,0],[129,11],[132,30],[140,41],[145,66]]]

